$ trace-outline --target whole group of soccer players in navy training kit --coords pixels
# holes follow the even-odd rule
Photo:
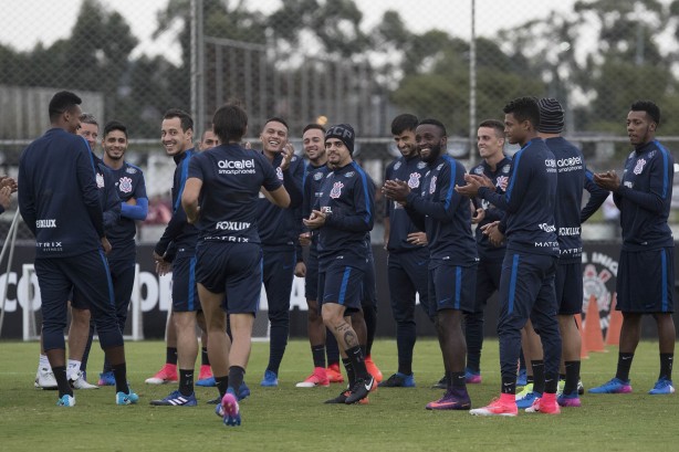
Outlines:
[[[143,220],[148,208],[144,177],[124,161],[127,129],[121,123],[104,127],[104,159],[94,155],[92,143],[83,139],[92,138],[93,132],[83,133],[87,118],[81,116],[80,103],[73,93],[58,93],[50,103],[53,128],[24,150],[20,162],[19,206],[36,236],[43,304],[44,355],[36,385],[55,386],[59,404],[67,407],[75,403],[73,388],[95,387],[86,382],[84,371],[96,328],[106,351],[100,385],[116,386],[116,403],[135,403],[138,397],[126,380],[122,329],[134,283],[134,222]],[[574,316],[583,302],[581,224],[608,191],[621,211],[618,308],[624,324],[616,377],[589,391],[631,391],[628,375],[640,318],[652,314],[661,370],[650,393],[672,393],[673,241],[667,218],[673,160],[655,140],[658,107],[650,102],[633,104],[627,130],[635,150],[621,179],[615,171],[587,171],[582,153],[561,137],[564,112],[556,99],[521,97],[503,111],[503,122],[479,125],[482,162],[469,174],[447,154],[440,120],[405,114],[391,124],[401,157],[388,166],[382,192],[389,201],[385,248],[398,369],[382,382],[370,359],[376,297],[369,234],[376,188],[354,161],[353,127],[306,126],[306,164],[294,155],[288,124],[280,117],[264,124],[262,150],[257,151],[241,145],[248,132],[246,112],[224,105],[216,112],[213,135],[208,136],[217,146],[196,151],[191,117],[168,111],[161,141],[177,164],[173,217],[154,259],[159,274],[173,274],[176,347],[168,344],[168,362],[147,382],[178,380],[179,387],[150,403],[197,404],[199,324],[207,333],[200,380],[217,387],[216,413],[224,424],[239,425],[238,402],[250,393],[244,375],[260,287],[263,283],[267,290],[271,320],[270,358],[261,386],[275,387],[288,343],[291,285],[297,275],[306,277],[314,365],[297,387],[342,381],[340,357],[348,378],[346,390],[326,403],[365,403],[376,386],[416,386],[418,294],[436,326],[445,369],[437,385],[445,393],[426,408],[470,410],[467,385],[481,382],[483,311],[498,291],[501,395],[471,413],[516,416],[525,408],[555,414],[560,407],[578,407],[579,332]],[[79,130],[83,138],[75,136]],[[512,158],[504,153],[505,140],[520,146]],[[54,165],[67,167],[67,174],[56,174]],[[591,197],[581,209],[583,189]],[[2,190],[7,191],[1,189],[0,196]],[[301,245],[310,245],[306,262]],[[67,299],[74,322],[66,364]],[[531,380],[516,396],[521,353],[531,365]],[[211,372],[203,374],[207,366]],[[53,382],[45,381],[48,377]],[[565,381],[557,395],[560,378]]]

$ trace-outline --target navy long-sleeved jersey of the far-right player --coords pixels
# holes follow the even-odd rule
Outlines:
[[[631,151],[618,191],[613,193],[620,209],[623,250],[641,251],[673,246],[667,224],[675,159],[658,140]]]

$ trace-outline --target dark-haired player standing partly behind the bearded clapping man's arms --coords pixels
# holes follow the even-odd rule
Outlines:
[[[427,174],[427,164],[420,159],[415,143],[417,116],[398,115],[391,120],[391,135],[401,157],[385,170],[385,180],[405,180],[410,189],[419,189]],[[388,251],[389,297],[396,320],[396,349],[398,370],[378,386],[380,388],[412,388],[412,349],[417,339],[415,324],[415,294],[429,316],[427,269],[429,250],[427,234],[418,230],[398,202],[388,201],[385,212],[385,249]]]

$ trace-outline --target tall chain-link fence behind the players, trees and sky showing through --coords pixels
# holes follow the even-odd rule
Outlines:
[[[170,107],[190,111],[199,136],[238,99],[255,147],[265,118],[282,116],[297,153],[305,124],[352,123],[377,182],[398,155],[397,114],[442,120],[449,153],[470,164],[476,125],[522,95],[562,102],[565,134],[595,170],[621,167],[637,98],[660,105],[661,139],[679,141],[675,0],[10,0],[3,14],[0,171],[15,177],[21,149],[49,127],[49,98],[72,90],[100,124],[128,125],[127,158],[145,170],[152,208],[171,186],[159,145]],[[158,223],[140,238],[154,240]]]

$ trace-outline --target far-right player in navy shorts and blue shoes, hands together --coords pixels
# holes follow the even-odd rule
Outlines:
[[[650,314],[658,325],[660,375],[650,395],[675,392],[675,243],[667,218],[672,199],[675,159],[656,139],[660,108],[637,101],[627,114],[627,135],[634,150],[625,161],[623,178],[615,171],[594,176],[594,181],[613,191],[620,209],[623,248],[618,266],[616,309],[623,312],[620,350],[615,377],[589,389],[592,393],[631,392],[629,369],[639,344],[641,316]]]

